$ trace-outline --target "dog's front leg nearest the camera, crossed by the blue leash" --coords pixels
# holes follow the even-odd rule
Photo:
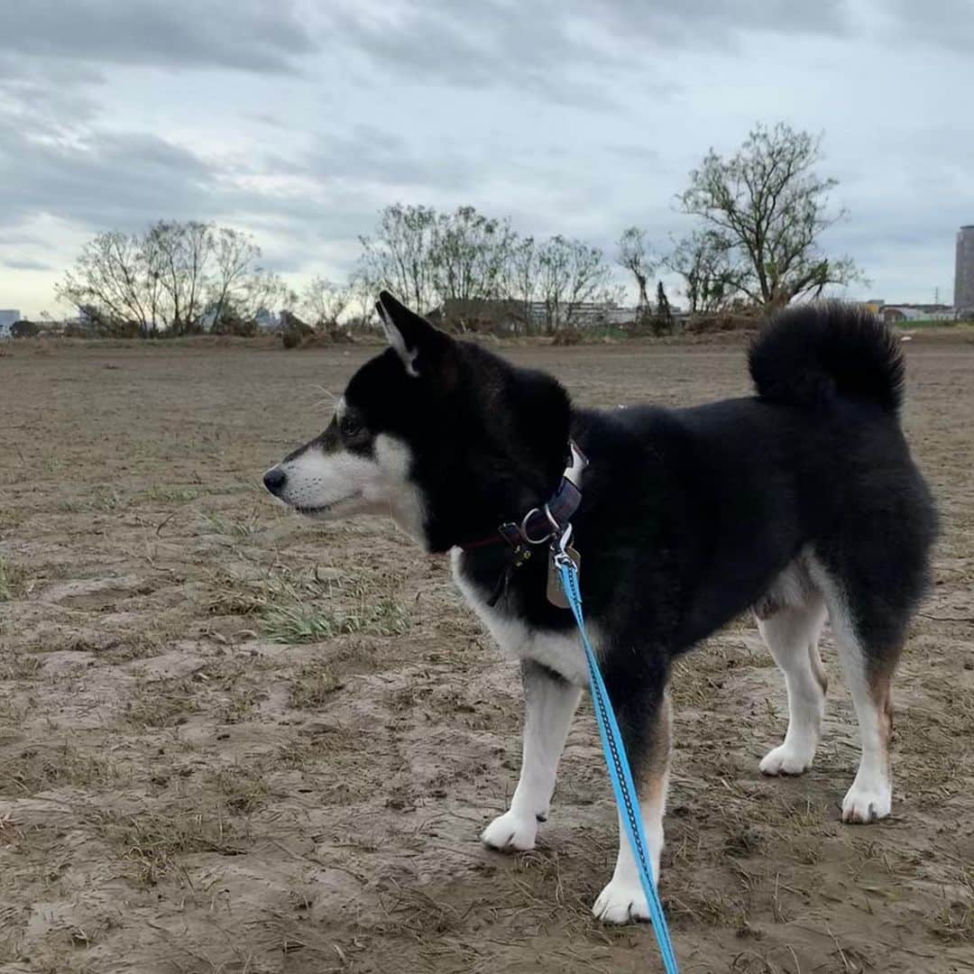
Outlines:
[[[643,831],[653,881],[659,879],[659,855],[663,849],[663,813],[669,783],[670,718],[669,693],[658,687],[645,692],[624,688],[608,681],[609,695],[616,708],[622,743],[625,745],[632,776],[639,791]],[[613,684],[616,684],[614,692]],[[599,893],[592,913],[606,923],[648,920],[649,906],[636,870],[621,819],[618,827],[618,857],[612,880]]]

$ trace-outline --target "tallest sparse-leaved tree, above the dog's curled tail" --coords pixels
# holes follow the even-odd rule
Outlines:
[[[814,172],[820,161],[820,138],[782,123],[759,125],[731,157],[711,149],[679,197],[684,212],[731,243],[737,286],[757,304],[780,307],[859,278],[850,258],[818,248],[822,232],[844,215],[830,212],[837,182]]]

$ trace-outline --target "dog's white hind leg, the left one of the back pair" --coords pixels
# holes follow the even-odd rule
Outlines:
[[[806,592],[801,606],[758,610],[758,628],[788,691],[788,731],[784,741],[762,759],[763,774],[801,774],[815,757],[828,688],[818,655],[825,617],[825,603],[817,591]]]

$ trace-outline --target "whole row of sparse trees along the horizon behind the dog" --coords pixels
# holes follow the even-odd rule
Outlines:
[[[297,293],[263,267],[248,235],[163,220],[141,234],[99,234],[56,294],[90,327],[146,337],[247,334],[267,309],[280,308],[296,325],[367,325],[384,287],[426,314],[463,323],[493,309],[508,327],[552,333],[618,304],[625,286],[617,269],[635,289],[637,321],[658,328],[672,321],[656,281],[662,269],[680,278],[691,315],[772,309],[859,278],[851,259],[828,256],[820,245],[845,215],[830,203],[836,181],[815,171],[821,158],[820,138],[783,124],[757,126],[731,155],[711,150],[676,198],[696,226],[663,248],[640,226],[626,228],[610,255],[559,235],[523,236],[509,219],[473,206],[442,212],[393,204],[359,238],[346,281],[318,278]]]

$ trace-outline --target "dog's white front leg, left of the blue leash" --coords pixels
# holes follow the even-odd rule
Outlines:
[[[558,760],[581,689],[541,663],[521,662],[524,685],[524,754],[510,808],[484,829],[481,839],[502,851],[535,847],[538,823],[547,818]]]

